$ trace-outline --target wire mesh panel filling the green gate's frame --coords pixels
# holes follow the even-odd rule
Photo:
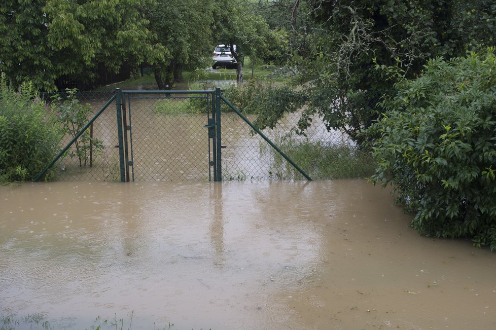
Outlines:
[[[174,94],[172,94],[174,95]],[[210,179],[208,94],[131,94],[126,99],[135,181]]]

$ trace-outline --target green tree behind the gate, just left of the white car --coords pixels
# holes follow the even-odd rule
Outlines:
[[[159,89],[171,89],[184,70],[210,65],[212,1],[159,0],[145,6],[144,12],[166,49],[163,57],[152,60]]]

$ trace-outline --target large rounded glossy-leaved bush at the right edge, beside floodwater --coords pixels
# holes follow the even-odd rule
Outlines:
[[[421,77],[396,84],[369,133],[378,138],[372,181],[391,183],[412,227],[471,237],[496,249],[496,57],[494,49],[434,59]]]

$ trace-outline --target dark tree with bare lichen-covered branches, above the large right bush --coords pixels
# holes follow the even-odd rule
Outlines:
[[[293,0],[286,8],[293,40],[301,35],[294,85],[310,100],[300,128],[317,114],[357,141],[380,113],[378,97],[394,89],[387,68],[412,78],[429,58],[462,56],[496,39],[490,0]]]

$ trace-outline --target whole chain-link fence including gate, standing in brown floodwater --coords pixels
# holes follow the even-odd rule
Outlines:
[[[79,128],[93,119],[50,171],[57,180],[121,181],[122,158],[128,169],[126,180],[131,181],[211,180],[218,173],[218,180],[305,179],[295,164],[313,179],[363,177],[373,169],[369,154],[356,141],[344,130],[328,130],[318,116],[314,116],[306,136],[297,134],[301,111],[286,114],[274,129],[261,132],[277,150],[226,107],[228,110],[217,118],[221,140],[216,145],[219,141],[211,136],[216,129],[211,127],[212,108],[216,106],[212,95],[186,91],[177,95],[130,94],[121,100],[121,134],[129,145],[120,155],[116,100],[109,104],[114,92],[45,94],[48,102],[58,104],[60,116],[64,111],[70,113],[70,105],[83,112],[81,109],[87,109],[84,118],[70,113],[79,120]],[[254,118],[245,115],[247,121]],[[74,130],[66,129],[64,143],[74,137]],[[222,160],[217,159],[217,152]],[[221,164],[219,172],[212,168],[215,162]]]

